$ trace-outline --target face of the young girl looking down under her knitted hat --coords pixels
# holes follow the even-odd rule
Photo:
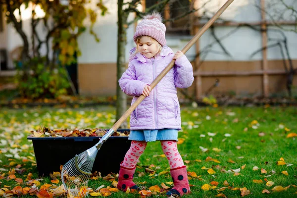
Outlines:
[[[146,56],[146,58],[153,57],[159,51],[157,42],[148,36],[141,37],[137,45],[139,52]]]

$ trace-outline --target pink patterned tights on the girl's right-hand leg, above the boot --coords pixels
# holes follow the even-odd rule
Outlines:
[[[166,155],[170,168],[178,168],[184,166],[184,161],[178,152],[176,141],[166,140],[160,141],[164,154]]]

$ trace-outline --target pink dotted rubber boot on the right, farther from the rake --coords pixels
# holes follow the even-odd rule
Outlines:
[[[173,168],[170,170],[170,173],[174,187],[166,193],[168,197],[178,198],[184,194],[191,193],[186,166]]]

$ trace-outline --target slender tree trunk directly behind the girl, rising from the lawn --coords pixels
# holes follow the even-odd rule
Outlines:
[[[123,0],[118,0],[118,42],[117,42],[117,82],[116,82],[116,120],[127,110],[127,96],[119,86],[118,80],[126,70],[125,49],[127,44],[127,16],[123,12]],[[127,128],[127,121],[120,128]]]

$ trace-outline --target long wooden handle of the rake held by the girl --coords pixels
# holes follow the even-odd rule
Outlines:
[[[226,3],[207,21],[207,23],[198,31],[198,33],[189,41],[189,43],[182,49],[182,52],[185,54],[202,36],[202,34],[217,20],[220,15],[227,9],[227,7],[234,0],[227,0]],[[151,90],[160,82],[160,80],[169,72],[169,70],[174,66],[175,60],[172,60],[168,66],[155,78],[155,80],[149,85]],[[136,107],[142,102],[146,97],[141,95],[131,106],[130,108],[120,117],[120,119],[112,126],[111,129],[116,131],[120,125],[128,118],[128,116],[136,109]]]

